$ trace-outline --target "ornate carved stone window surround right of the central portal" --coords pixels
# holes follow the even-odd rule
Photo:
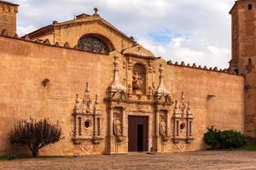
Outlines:
[[[175,101],[173,116],[172,116],[172,141],[177,144],[181,141],[189,144],[194,139],[192,132],[193,116],[190,110],[189,102],[185,102],[185,96],[182,92],[180,102]]]

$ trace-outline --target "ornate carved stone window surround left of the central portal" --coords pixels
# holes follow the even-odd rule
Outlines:
[[[91,140],[99,144],[102,137],[102,115],[98,108],[98,96],[95,102],[90,99],[89,83],[86,82],[84,98],[80,101],[79,94],[73,111],[74,119],[74,144],[81,144],[84,140]]]

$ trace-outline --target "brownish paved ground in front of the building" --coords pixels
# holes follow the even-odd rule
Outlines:
[[[0,161],[6,170],[59,169],[255,169],[256,151],[197,151],[172,154],[128,154],[81,158],[38,158]]]

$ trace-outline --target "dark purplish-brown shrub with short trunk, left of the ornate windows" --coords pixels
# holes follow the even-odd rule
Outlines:
[[[30,119],[20,120],[15,123],[13,132],[9,135],[10,144],[18,146],[27,145],[32,151],[32,156],[38,156],[38,150],[54,144],[61,139],[61,127],[58,123],[51,124],[48,119],[40,120],[39,122]]]

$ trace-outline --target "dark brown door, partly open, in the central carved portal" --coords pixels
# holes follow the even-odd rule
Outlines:
[[[128,116],[128,151],[148,151],[148,116]]]

